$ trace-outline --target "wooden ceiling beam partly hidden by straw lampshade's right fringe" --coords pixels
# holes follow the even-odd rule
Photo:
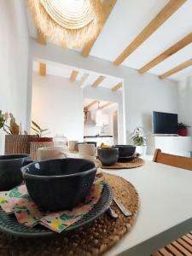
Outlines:
[[[102,23],[102,27],[105,25],[106,20],[108,20],[108,16],[111,14],[111,11],[113,10],[113,7],[117,0],[105,0],[102,3],[102,9],[104,9],[104,20]],[[100,31],[97,32],[96,38],[93,38],[90,40],[87,44],[84,45],[84,48],[82,49],[81,55],[84,57],[87,57],[90,54],[90,50],[92,49],[93,45],[96,43],[96,39],[98,38],[100,32],[102,31],[102,28]]]

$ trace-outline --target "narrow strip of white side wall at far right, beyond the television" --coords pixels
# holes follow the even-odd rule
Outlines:
[[[178,82],[178,118],[180,122],[192,126],[192,76]],[[192,128],[188,128],[192,136]]]

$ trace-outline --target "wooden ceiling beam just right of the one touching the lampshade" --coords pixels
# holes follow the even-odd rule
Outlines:
[[[113,64],[119,66],[131,55],[144,41],[146,41],[167,19],[169,19],[187,0],[170,0],[166,6],[160,10],[158,15],[151,20],[143,31],[129,44],[125,50],[117,57]]]

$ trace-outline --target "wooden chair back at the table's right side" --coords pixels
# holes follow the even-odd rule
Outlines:
[[[192,158],[175,154],[161,153],[160,149],[155,150],[153,161],[167,166],[175,166],[192,171]]]

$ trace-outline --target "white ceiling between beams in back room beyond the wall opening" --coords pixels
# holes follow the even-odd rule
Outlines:
[[[98,77],[100,75],[103,75],[103,76],[106,77],[106,79],[104,79],[102,81],[102,83],[99,85],[100,87],[105,87],[105,88],[108,88],[108,89],[112,89],[113,86],[122,82],[122,79],[112,77],[112,76],[108,76],[108,75],[103,74],[103,73],[101,74],[101,73],[96,73],[96,72],[90,72],[88,70],[74,68],[74,67],[70,67],[70,66],[67,66],[67,65],[61,65],[59,63],[55,63],[55,62],[52,62],[52,61],[46,61],[46,73],[49,74],[49,75],[55,75],[55,76],[59,76],[59,77],[62,77],[62,78],[69,79],[73,70],[79,71],[78,77],[76,79],[79,82],[82,79],[84,73],[89,74],[88,78],[84,81],[84,87],[85,86],[90,86],[91,84],[93,84],[96,81],[96,79],[98,79]],[[39,61],[38,60],[33,61],[33,71],[39,72]],[[119,89],[119,90],[121,90],[121,89]]]

